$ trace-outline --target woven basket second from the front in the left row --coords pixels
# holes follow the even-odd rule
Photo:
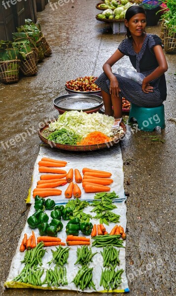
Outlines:
[[[33,51],[26,55],[26,60],[21,61],[20,71],[25,76],[33,76],[37,73],[37,68],[35,64],[35,54]]]

